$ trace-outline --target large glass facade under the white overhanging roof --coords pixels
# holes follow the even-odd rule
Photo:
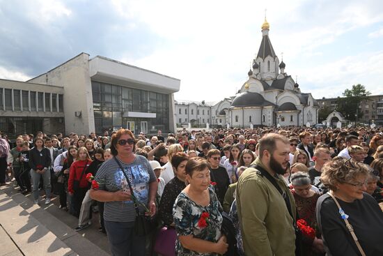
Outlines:
[[[134,134],[169,130],[169,95],[92,81],[95,132],[129,128]],[[123,117],[124,112],[155,113],[155,118]]]

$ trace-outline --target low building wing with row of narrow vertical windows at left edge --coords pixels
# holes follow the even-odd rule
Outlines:
[[[0,131],[65,133],[63,93],[62,86],[0,80]]]

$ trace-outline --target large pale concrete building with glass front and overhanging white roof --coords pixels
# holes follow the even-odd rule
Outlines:
[[[81,53],[28,82],[63,86],[66,133],[121,127],[136,135],[175,131],[173,93],[180,90],[176,78]]]

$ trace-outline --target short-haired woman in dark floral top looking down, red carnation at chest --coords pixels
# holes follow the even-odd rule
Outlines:
[[[208,162],[203,158],[189,159],[185,172],[189,185],[173,206],[176,253],[178,256],[222,255],[228,244],[221,234],[222,207],[210,187]]]

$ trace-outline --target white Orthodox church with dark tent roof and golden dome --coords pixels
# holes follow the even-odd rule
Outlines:
[[[319,105],[311,93],[285,72],[269,38],[269,23],[262,25],[262,41],[238,93],[212,105],[212,124],[224,127],[306,126],[318,123]]]

